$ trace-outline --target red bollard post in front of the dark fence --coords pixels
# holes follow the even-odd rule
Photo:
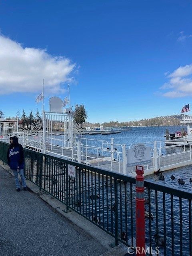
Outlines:
[[[136,255],[145,256],[144,170],[136,166]]]

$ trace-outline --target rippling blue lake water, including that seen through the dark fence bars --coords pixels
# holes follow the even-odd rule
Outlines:
[[[166,133],[166,128],[168,128],[170,133],[175,133],[176,131],[181,131],[182,128],[186,130],[186,126],[160,126],[160,127],[131,127],[132,130],[122,130],[119,134],[108,134],[108,135],[83,135],[78,136],[82,139],[82,143],[85,144],[85,141],[83,138],[86,139],[92,139],[94,140],[92,145],[99,146],[99,142],[96,140],[106,140],[108,143],[111,143],[111,138],[114,138],[114,144],[126,144],[126,148],[129,148],[131,144],[136,144],[138,142],[146,143],[151,142],[149,146],[153,146],[154,140],[156,141],[162,141],[162,146],[165,146],[164,141],[165,137],[164,134]],[[60,138],[58,136],[58,138]],[[90,144],[90,143],[89,143]],[[109,146],[110,147],[110,146]],[[162,151],[165,154],[169,154],[170,149],[164,149]],[[177,147],[176,151],[181,151],[182,147]],[[172,180],[170,178],[171,174],[175,176],[175,180]],[[165,187],[171,186],[172,188],[176,188],[179,190],[187,190],[192,191],[192,183],[189,182],[189,178],[192,178],[192,166],[186,166],[182,168],[177,168],[175,170],[166,171],[164,172],[165,180],[160,181],[159,177],[155,174],[149,175],[145,177],[145,180],[156,182],[157,184],[161,184]],[[178,183],[178,178],[183,178],[185,181],[184,185],[181,185]],[[88,179],[87,179],[88,182]],[[91,180],[90,180],[91,184]],[[87,198],[87,202],[89,204],[91,203],[91,209],[90,209],[90,215],[93,216],[95,212],[97,214],[100,214],[100,217],[103,221],[103,224],[106,226],[107,220],[109,220],[108,228],[111,230],[114,230],[114,212],[110,212],[108,210],[108,200],[114,202],[114,186],[112,185],[110,188],[106,186],[102,186],[98,182],[98,178],[96,180],[96,193],[100,194],[100,200],[102,202],[102,206],[99,204],[98,200],[96,204],[92,204],[92,202],[89,202],[90,198],[87,198],[87,193],[82,192],[84,194],[84,198]],[[90,190],[90,188],[86,188],[86,190]],[[127,199],[125,199],[125,190],[127,194]],[[100,193],[99,191],[102,191]],[[118,185],[118,191],[121,191],[120,185]],[[93,192],[90,190],[90,193]],[[122,221],[119,220],[119,223],[122,223],[122,230],[129,230],[127,232],[128,238],[130,238],[130,226],[132,224],[132,220],[130,218],[130,199],[131,199],[131,192],[129,184],[124,188],[122,185],[122,193],[118,194],[118,212],[122,212]],[[132,197],[135,197],[135,187],[133,185],[132,190]],[[111,199],[110,199],[111,198]],[[148,191],[145,189],[145,198],[148,198]],[[126,202],[126,205],[125,205]],[[179,256],[180,255],[180,216],[179,216],[179,208],[180,208],[180,202],[178,197],[173,197],[173,204],[174,204],[174,255]],[[83,206],[85,210],[85,205]],[[164,208],[165,207],[165,208]],[[126,209],[126,210],[125,210]],[[133,200],[133,213],[135,216],[135,200]],[[146,205],[146,209],[148,210],[148,205]],[[163,236],[164,231],[164,212],[166,212],[166,254],[164,254],[164,248],[160,248],[160,252],[162,255],[170,256],[172,255],[171,251],[171,212],[170,212],[171,206],[170,206],[170,195],[165,195],[165,206],[163,204],[162,200],[162,192],[158,192],[158,220],[154,218],[154,220],[151,223],[152,228],[152,236],[156,233],[156,223],[158,221],[158,228],[159,228],[159,234]],[[109,216],[108,216],[109,211]],[[151,190],[151,212],[156,215],[156,202],[155,202],[155,192],[154,190]],[[108,218],[107,218],[108,216]],[[127,220],[125,221],[127,216]],[[92,218],[92,217],[90,217]],[[134,218],[135,219],[135,218]],[[182,200],[182,227],[183,227],[183,255],[189,255],[189,238],[188,238],[188,229],[189,229],[189,206],[188,206],[188,200]],[[120,225],[120,224],[119,224]],[[119,226],[119,230],[120,230]],[[135,230],[135,223],[133,223],[133,228]],[[146,219],[146,244],[149,244],[149,220]],[[156,244],[154,241],[154,238],[152,238],[152,247],[155,248]]]

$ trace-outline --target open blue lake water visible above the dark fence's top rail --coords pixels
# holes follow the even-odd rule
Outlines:
[[[164,141],[164,134],[166,133],[166,128],[170,133],[175,133],[176,131],[181,131],[182,128],[187,130],[186,126],[157,126],[157,127],[131,127],[132,130],[124,130],[118,134],[108,134],[108,135],[83,135],[83,138],[95,139],[95,140],[107,140],[109,143],[111,138],[114,138],[114,143],[118,144],[126,144],[128,148],[131,144],[136,144],[137,142],[153,142],[156,141]],[[97,144],[97,142],[94,142]],[[152,145],[151,144],[151,145]],[[162,143],[162,145],[164,145]],[[182,147],[177,147],[177,151],[181,151]],[[166,151],[162,151],[163,153]],[[171,174],[175,176],[175,180],[170,179]],[[165,181],[158,180],[158,176],[149,175],[146,176],[146,180],[151,180],[153,182],[157,182],[160,184],[165,184],[168,186],[172,186],[174,188],[182,188],[182,189],[190,189],[192,191],[192,183],[189,182],[189,179],[192,178],[192,166],[185,166],[181,168],[176,168],[174,170],[166,171],[163,174],[165,176]],[[178,178],[183,178],[185,181],[184,185],[181,185],[177,182]]]

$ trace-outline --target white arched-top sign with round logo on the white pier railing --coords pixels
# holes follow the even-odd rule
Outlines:
[[[127,166],[147,164],[151,162],[151,148],[142,143],[136,144],[127,150]]]

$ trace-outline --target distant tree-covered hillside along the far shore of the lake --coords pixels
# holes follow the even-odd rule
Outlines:
[[[150,119],[143,119],[138,121],[130,121],[130,122],[105,122],[103,124],[100,123],[89,123],[84,122],[85,126],[95,127],[103,125],[104,127],[117,127],[117,126],[174,126],[180,125],[180,120],[182,119],[183,114],[180,115],[172,115],[172,116],[158,116]]]

